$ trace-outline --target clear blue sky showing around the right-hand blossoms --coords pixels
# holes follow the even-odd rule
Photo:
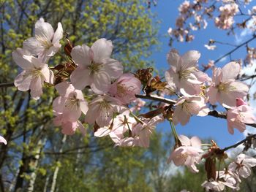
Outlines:
[[[167,35],[167,29],[169,27],[174,28],[176,18],[178,16],[178,6],[182,1],[178,0],[161,0],[158,1],[157,7],[151,7],[152,11],[157,14],[157,19],[162,22],[159,25],[159,41],[161,42],[161,49],[154,52],[152,59],[155,61],[155,67],[157,69],[167,70],[169,68],[166,61],[166,54],[170,50],[168,46],[169,38]],[[254,4],[254,3],[252,3]],[[251,4],[251,6],[252,6]],[[255,4],[254,4],[255,5]],[[250,6],[250,7],[251,7]],[[190,43],[180,43],[173,42],[173,48],[178,50],[182,55],[188,50],[198,50],[201,53],[201,58],[199,60],[199,66],[201,64],[207,64],[209,60],[216,60],[220,56],[232,50],[233,47],[228,45],[219,45],[216,50],[207,50],[204,47],[208,43],[209,39],[215,39],[221,42],[230,42],[233,44],[238,44],[239,42],[244,42],[244,40],[249,39],[250,31],[238,31],[236,36],[227,37],[226,31],[219,30],[214,27],[214,23],[208,22],[208,28],[206,30],[195,31],[195,40]],[[255,42],[251,45],[255,45]],[[245,48],[241,48],[232,55],[232,59],[244,58]],[[229,62],[229,58],[224,59],[219,62],[217,66],[223,66]],[[208,71],[211,77],[211,70]],[[222,109],[222,108],[220,108]],[[223,108],[224,111],[224,108]],[[227,122],[224,119],[218,119],[214,117],[196,117],[190,118],[189,123],[186,126],[176,126],[178,134],[185,134],[189,136],[198,136],[200,138],[214,139],[220,147],[226,147],[228,145],[233,145],[241,139],[244,139],[244,134],[239,133],[235,130],[235,134],[231,135],[227,131]],[[169,131],[170,125],[168,122],[162,123],[158,126],[159,131]]]

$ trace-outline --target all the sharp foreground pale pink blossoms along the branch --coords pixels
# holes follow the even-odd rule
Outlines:
[[[189,7],[186,2],[180,11],[186,12]],[[246,124],[255,123],[252,109],[244,101],[248,85],[236,80],[241,70],[237,62],[214,68],[212,77],[208,77],[197,68],[198,51],[190,50],[179,55],[177,50],[170,50],[167,53],[170,69],[165,72],[165,82],[159,76],[153,77],[151,68],[139,69],[135,73],[124,72],[122,64],[111,58],[112,42],[102,38],[91,47],[86,44],[73,47],[67,39],[64,47],[67,61],[50,67],[50,59],[61,51],[62,37],[61,23],[54,31],[50,23],[41,18],[35,25],[35,37],[26,39],[22,48],[13,51],[12,58],[23,69],[15,78],[19,91],[30,90],[31,98],[37,100],[42,95],[44,84],[56,88],[59,96],[53,101],[53,123],[61,126],[63,134],[72,135],[78,129],[84,135],[86,124],[94,128],[95,137],[108,136],[115,146],[149,147],[157,123],[166,119],[173,126],[178,123],[184,126],[192,115],[208,115],[217,102],[227,110],[230,134],[233,134],[233,128],[243,132]],[[146,104],[138,98],[142,91],[149,98],[157,91],[176,100],[172,104],[159,104],[156,110],[138,115]],[[200,139],[177,136],[174,130],[176,146],[167,162],[186,165],[192,172],[198,172],[195,164],[200,163],[203,154]],[[0,139],[0,142],[6,142]],[[239,157],[238,163],[245,163],[244,158],[241,161]],[[254,163],[248,164],[248,167],[255,166]],[[236,177],[241,175],[231,164],[228,172],[230,170],[233,174],[237,172]],[[241,177],[244,177],[244,171],[241,172]],[[212,189],[214,187],[209,185],[215,186],[212,182],[219,182],[220,178],[225,180],[226,177],[208,178],[203,186]],[[222,184],[226,185],[225,182]]]

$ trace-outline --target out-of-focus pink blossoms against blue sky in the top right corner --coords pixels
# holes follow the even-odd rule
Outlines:
[[[248,15],[239,10],[239,6],[244,4],[244,7],[249,4],[250,1],[234,1],[234,0],[222,0],[216,1],[214,4],[208,0],[196,0],[189,1],[185,0],[178,7],[179,15],[176,18],[176,26],[169,28],[167,33],[170,35],[170,39],[177,39],[179,42],[190,42],[195,39],[192,31],[198,29],[205,29],[208,26],[208,20],[213,20],[217,28],[222,30],[230,30],[239,26],[241,28],[249,28],[255,31],[255,25],[249,24],[250,22],[255,23],[255,10],[256,7],[248,9]],[[241,13],[242,16],[248,18],[244,19],[243,22],[236,23],[234,17]],[[236,26],[235,26],[236,25]],[[230,32],[228,32],[230,34]],[[211,45],[206,48],[213,50],[215,45]]]

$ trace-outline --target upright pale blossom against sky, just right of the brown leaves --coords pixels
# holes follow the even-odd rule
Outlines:
[[[170,50],[167,54],[167,61],[170,69],[165,72],[167,83],[176,88],[183,88],[186,93],[196,95],[200,93],[200,85],[208,80],[208,75],[197,69],[197,61],[200,53],[196,50],[190,50],[184,55],[178,55],[176,50]]]

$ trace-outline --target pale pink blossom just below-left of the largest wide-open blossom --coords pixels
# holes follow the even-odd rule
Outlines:
[[[60,112],[63,118],[71,122],[78,120],[82,112],[86,115],[88,104],[82,91],[75,89],[69,82],[61,82],[55,88],[60,96],[53,101],[54,111]]]

